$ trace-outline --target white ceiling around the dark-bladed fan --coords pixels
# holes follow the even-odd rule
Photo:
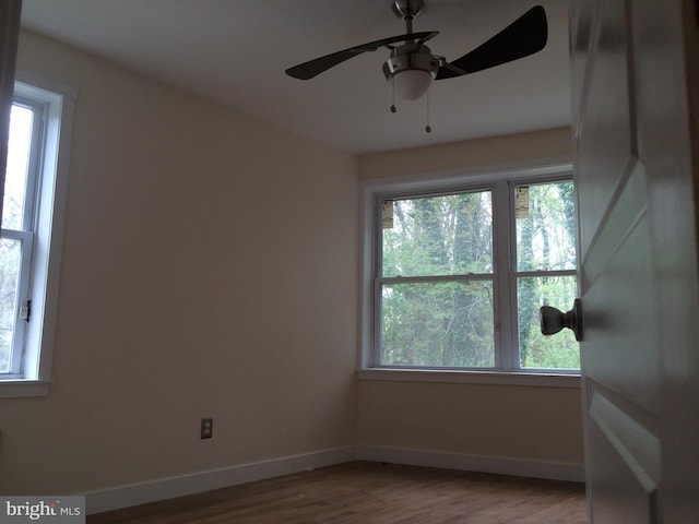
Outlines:
[[[405,33],[390,0],[24,0],[28,28],[246,114],[354,153],[416,147],[568,126],[568,0],[425,0],[414,31],[439,31],[433,52],[454,60],[535,4],[548,17],[536,55],[435,82],[398,99],[365,52],[309,81],[284,71]]]

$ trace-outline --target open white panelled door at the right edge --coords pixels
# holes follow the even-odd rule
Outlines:
[[[699,523],[697,3],[571,2],[595,524]]]

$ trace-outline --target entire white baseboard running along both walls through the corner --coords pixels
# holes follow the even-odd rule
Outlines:
[[[87,514],[102,513],[355,460],[495,473],[519,477],[548,478],[553,480],[584,481],[583,467],[580,464],[360,445],[241,464],[178,477],[161,478],[82,495],[86,497]]]

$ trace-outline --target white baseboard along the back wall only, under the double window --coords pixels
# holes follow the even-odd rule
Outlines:
[[[466,472],[495,473],[517,477],[547,478],[550,480],[584,481],[582,464],[536,462],[497,456],[463,455],[437,451],[410,450],[359,445],[355,450],[358,461],[387,462],[412,466],[443,467]]]

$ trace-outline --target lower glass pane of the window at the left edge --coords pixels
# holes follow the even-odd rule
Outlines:
[[[8,373],[12,364],[10,357],[21,260],[22,242],[0,239],[0,373]]]

